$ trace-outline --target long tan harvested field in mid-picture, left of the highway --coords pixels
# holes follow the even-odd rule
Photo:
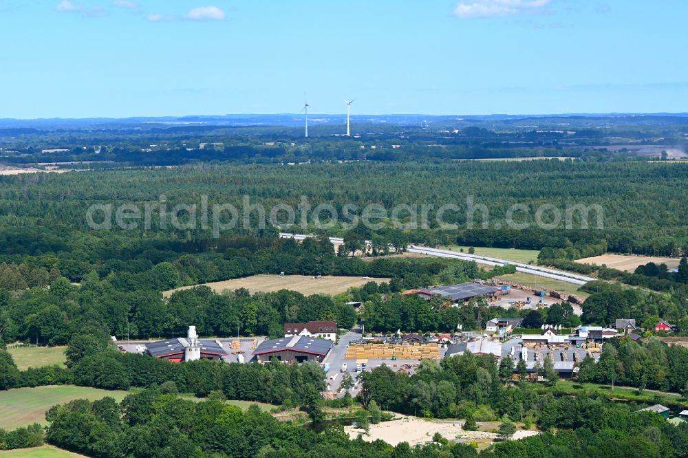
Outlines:
[[[350,287],[361,287],[369,281],[384,283],[389,279],[364,279],[362,276],[323,276],[321,279],[314,279],[308,275],[254,275],[243,279],[215,281],[205,285],[218,293],[224,290],[233,291],[246,288],[251,294],[291,290],[310,296],[311,294],[339,294]],[[162,294],[163,296],[170,296],[175,291],[188,290],[189,288],[193,288],[193,286],[182,286]]]

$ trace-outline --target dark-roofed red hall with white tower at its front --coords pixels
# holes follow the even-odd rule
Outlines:
[[[153,356],[153,358],[160,358],[171,362],[200,359],[220,361],[228,356],[227,351],[216,340],[199,340],[195,326],[189,326],[186,338],[157,340],[147,343],[145,347],[145,353]]]

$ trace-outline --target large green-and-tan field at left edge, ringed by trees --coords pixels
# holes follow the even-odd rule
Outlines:
[[[45,412],[55,404],[75,399],[114,397],[120,402],[127,391],[107,391],[85,386],[36,386],[0,391],[0,428],[12,430],[32,423],[47,424]]]

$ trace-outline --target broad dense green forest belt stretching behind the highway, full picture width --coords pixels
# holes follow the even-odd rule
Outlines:
[[[91,229],[86,215],[94,204],[133,204],[140,212],[144,212],[145,204],[157,206],[151,209],[150,228],[143,230],[145,225],[140,217],[138,229],[127,230],[127,240],[143,236],[151,240],[163,232],[165,239],[177,243],[202,243],[213,235],[213,215],[205,226],[199,216],[195,224],[184,224],[179,229],[161,220],[159,214],[163,204],[168,212],[178,204],[196,205],[198,210],[202,196],[207,196],[209,208],[230,204],[239,212],[236,227],[223,230],[222,235],[269,232],[272,225],[268,221],[261,228],[260,213],[252,207],[256,204],[264,206],[266,219],[277,204],[290,206],[294,210],[293,220],[278,212],[272,221],[284,230],[326,230],[330,235],[344,235],[345,225],[361,217],[370,204],[379,204],[386,210],[387,218],[383,215],[374,221],[382,228],[395,227],[390,218],[395,206],[426,205],[431,206],[427,210],[427,226],[419,217],[418,228],[413,228],[408,212],[398,214],[400,227],[405,228],[411,243],[437,245],[458,241],[472,246],[563,250],[572,247],[577,251],[571,252],[571,256],[576,257],[605,250],[676,257],[688,246],[682,217],[686,211],[682,197],[688,187],[687,167],[559,160],[298,166],[206,164],[173,171],[138,168],[1,177],[0,254],[56,253],[67,248],[83,251],[89,249],[91,241],[110,239],[113,235],[105,235],[105,230],[83,234]],[[308,207],[303,206],[303,199]],[[313,209],[320,204],[332,205],[337,221],[327,219],[327,213],[315,215]],[[355,207],[345,212],[347,204]],[[518,226],[506,221],[508,210],[515,204],[525,206],[513,213],[513,223]],[[581,212],[572,212],[567,224],[567,206],[577,204],[591,208],[587,227],[581,221]],[[456,208],[441,212],[440,207],[445,205]],[[546,228],[535,223],[537,209],[543,205],[554,206],[561,212],[559,221],[552,220],[549,213],[542,215],[548,225],[556,223]],[[486,212],[480,210],[482,206]],[[601,212],[594,210],[594,206],[599,206]],[[99,212],[94,218],[98,223],[111,222],[111,230],[121,232],[115,223],[115,212],[116,208],[111,214]],[[189,222],[183,211],[182,214],[183,222]],[[246,224],[243,217],[248,220]],[[322,224],[332,224],[319,227],[318,218]],[[288,226],[290,222],[293,227]]]

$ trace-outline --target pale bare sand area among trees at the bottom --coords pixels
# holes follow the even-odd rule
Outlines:
[[[432,441],[435,433],[440,433],[442,437],[460,442],[471,442],[477,440],[494,441],[497,438],[495,433],[488,433],[486,431],[464,431],[462,420],[456,421],[428,421],[416,417],[409,417],[407,415],[396,414],[397,419],[391,422],[382,422],[380,424],[370,425],[370,433],[363,434],[363,440],[376,441],[382,439],[383,441],[396,446],[400,442],[408,442],[409,445],[425,444]],[[349,437],[355,439],[362,430],[354,428],[354,426],[346,426],[344,430],[349,434]],[[538,431],[517,431],[513,439],[522,439],[523,437],[533,436],[539,434]]]

